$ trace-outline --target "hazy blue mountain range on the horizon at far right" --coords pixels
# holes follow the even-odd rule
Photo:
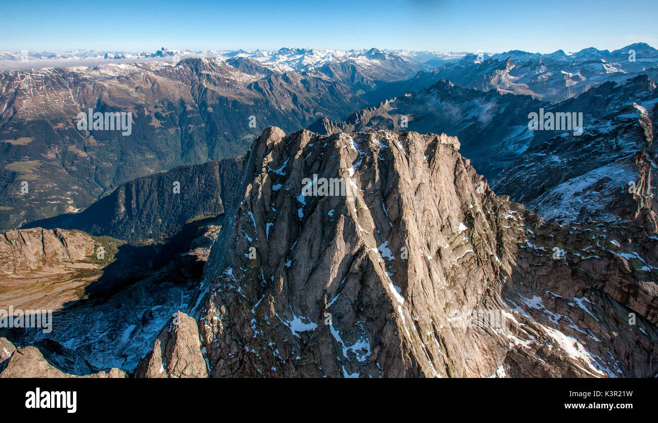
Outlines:
[[[418,72],[409,80],[378,87],[367,98],[371,103],[379,103],[443,79],[460,87],[497,89],[557,103],[603,82],[620,82],[638,74],[658,79],[658,50],[645,43],[612,52],[589,48],[569,55],[561,50],[547,55],[518,50],[495,55],[482,53],[481,57],[468,54],[432,71]]]

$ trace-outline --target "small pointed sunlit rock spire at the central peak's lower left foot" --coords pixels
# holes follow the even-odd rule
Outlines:
[[[139,363],[138,378],[207,378],[197,321],[176,312]]]

